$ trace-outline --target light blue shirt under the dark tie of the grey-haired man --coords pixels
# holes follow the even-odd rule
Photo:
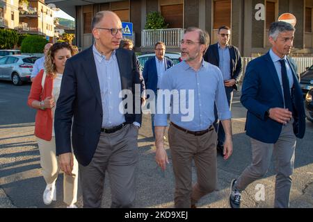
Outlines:
[[[284,64],[286,65],[286,69],[287,69],[287,76],[289,79],[289,87],[291,88],[294,85],[294,78],[292,76],[292,71],[291,71],[291,67],[289,66],[289,62],[286,58],[286,56],[284,56],[284,58],[280,58],[279,56],[277,56],[272,49],[269,52],[271,59],[274,62],[275,65],[275,69],[278,75],[278,79],[280,80],[280,87],[282,89],[282,97],[284,98],[284,88],[282,87],[282,66],[280,65],[280,60],[284,60]],[[291,90],[291,89],[290,89]],[[291,91],[290,91],[291,93]]]

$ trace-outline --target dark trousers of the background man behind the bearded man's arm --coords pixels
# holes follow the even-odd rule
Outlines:
[[[230,110],[232,107],[233,91],[234,91],[233,87],[225,87],[225,93],[226,93],[228,105],[230,106]],[[213,123],[213,126],[215,128],[216,133],[218,134],[218,145],[222,146],[225,142],[225,131],[224,131],[222,123],[218,120],[218,112],[217,112],[215,104],[214,104],[214,116],[215,116],[215,121]]]

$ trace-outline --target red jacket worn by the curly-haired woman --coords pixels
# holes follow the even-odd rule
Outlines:
[[[42,91],[42,76],[44,69],[41,69],[37,76],[35,76],[31,85],[31,92],[29,93],[29,99],[27,104],[32,108],[31,103],[34,100],[42,101],[48,96],[52,96],[52,89],[54,85],[54,79],[51,76],[46,76],[44,89]],[[47,141],[52,137],[52,111],[51,109],[37,110],[35,117],[35,136]]]

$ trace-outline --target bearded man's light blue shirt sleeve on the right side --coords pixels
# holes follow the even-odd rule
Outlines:
[[[216,69],[216,75],[218,76],[218,86],[216,88],[215,103],[218,111],[218,119],[231,119],[232,113],[230,112],[230,106],[227,102],[223,76],[220,69]]]

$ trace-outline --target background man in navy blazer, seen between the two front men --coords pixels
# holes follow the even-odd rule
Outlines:
[[[151,89],[154,92],[154,101],[157,102],[157,90],[160,87],[161,78],[164,71],[172,67],[172,60],[166,58],[166,45],[164,42],[157,42],[154,45],[155,57],[150,58],[145,62],[145,67],[143,68],[143,78],[145,80],[146,89]],[[149,95],[152,96],[152,95]],[[152,98],[150,98],[152,99]],[[151,123],[152,123],[152,134],[155,138],[154,133],[154,110],[151,114]]]

